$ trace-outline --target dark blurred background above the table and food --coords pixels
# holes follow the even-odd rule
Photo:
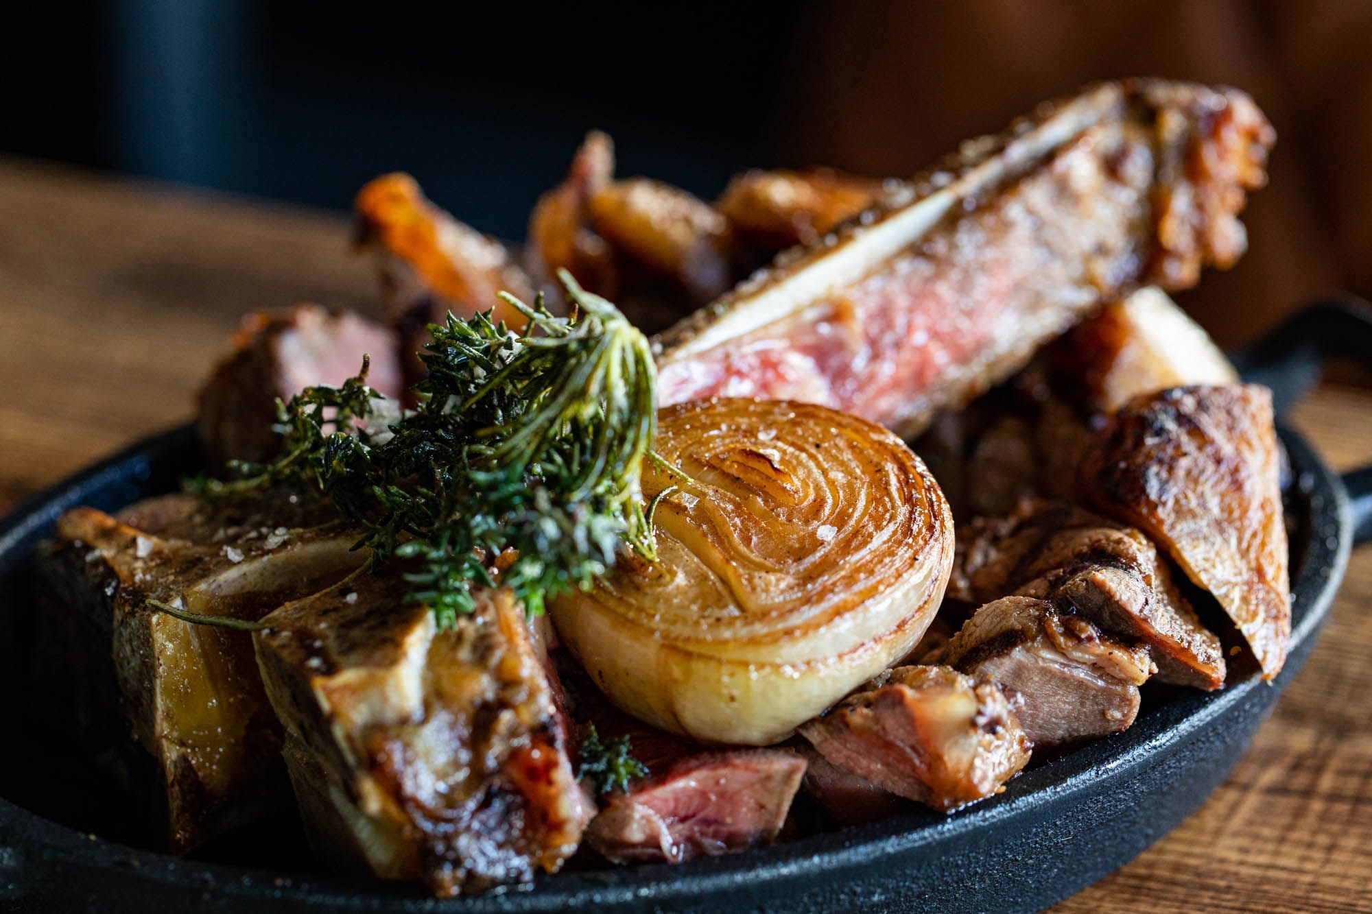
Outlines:
[[[1114,75],[1247,89],[1276,124],[1251,253],[1183,301],[1222,342],[1372,292],[1372,3],[963,0],[10,4],[0,151],[346,209],[412,172],[521,237],[589,128],[713,198],[749,165],[908,174]]]

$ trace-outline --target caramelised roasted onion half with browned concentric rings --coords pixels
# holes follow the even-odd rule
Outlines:
[[[713,398],[659,412],[645,464],[659,560],[626,557],[553,623],[620,708],[766,745],[904,657],[943,600],[952,516],[906,445],[823,406]]]

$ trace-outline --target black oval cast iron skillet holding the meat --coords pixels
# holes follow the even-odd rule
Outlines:
[[[1317,379],[1327,358],[1369,354],[1372,309],[1325,299],[1239,353],[1236,364],[1273,388],[1280,409]],[[8,747],[0,752],[7,759],[0,763],[0,904],[255,914],[1044,907],[1132,859],[1224,781],[1309,657],[1349,549],[1372,538],[1372,468],[1340,479],[1299,435],[1287,428],[1280,435],[1292,472],[1287,511],[1294,520],[1295,598],[1281,675],[1270,685],[1240,675],[1216,693],[1151,690],[1131,730],[1034,767],[999,797],[963,812],[910,812],[749,854],[682,866],[564,871],[530,891],[438,902],[412,885],[320,876],[307,863],[261,848],[255,856],[237,855],[248,865],[232,865],[176,859],[99,837],[92,828],[119,834],[107,825],[110,815],[99,814],[117,800],[102,793],[93,767],[63,752],[60,737],[29,723],[38,715],[26,719],[21,712],[7,715]],[[198,461],[193,431],[177,428],[40,493],[0,524],[0,694],[11,701],[25,696],[33,622],[27,568],[58,515],[74,505],[114,511],[167,491]],[[41,708],[40,696],[19,704]],[[269,865],[279,869],[263,869]]]

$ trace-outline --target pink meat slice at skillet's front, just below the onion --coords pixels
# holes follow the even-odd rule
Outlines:
[[[558,667],[584,737],[627,738],[646,769],[601,799],[586,843],[616,863],[679,863],[770,844],[800,789],[805,760],[789,749],[707,748],[615,708],[568,656]]]

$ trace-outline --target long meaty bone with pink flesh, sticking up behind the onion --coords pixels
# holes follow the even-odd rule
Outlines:
[[[1088,89],[661,333],[661,402],[801,399],[912,436],[1100,303],[1232,263],[1272,141],[1235,91]]]

